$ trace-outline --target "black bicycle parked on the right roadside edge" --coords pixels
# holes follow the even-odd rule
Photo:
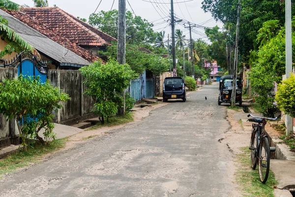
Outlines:
[[[258,123],[252,123],[252,134],[249,147],[251,150],[251,167],[252,169],[256,169],[258,163],[260,181],[265,184],[269,173],[270,152],[275,151],[275,147],[269,147],[265,125],[266,120],[277,120],[277,117],[266,118],[248,114],[248,117],[250,116],[252,118],[247,121]]]

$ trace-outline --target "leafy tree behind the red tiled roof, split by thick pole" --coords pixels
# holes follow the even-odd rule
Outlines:
[[[118,37],[118,10],[100,11],[90,14],[89,24],[101,31],[117,38]],[[156,33],[153,24],[140,16],[133,16],[132,12],[126,12],[126,43],[146,44],[154,43]]]

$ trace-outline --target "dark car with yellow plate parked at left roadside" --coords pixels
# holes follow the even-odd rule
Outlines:
[[[166,77],[163,84],[163,102],[168,99],[186,100],[185,83],[181,77]]]

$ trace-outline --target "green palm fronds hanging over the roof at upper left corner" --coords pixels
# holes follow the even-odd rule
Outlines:
[[[0,0],[0,7],[14,11],[18,11],[20,9],[19,4],[10,0]],[[0,16],[0,36],[9,44],[4,48],[4,51],[1,52],[0,56],[11,54],[13,51],[15,51],[14,48],[18,48],[20,50],[34,50],[28,42],[26,42],[21,36],[7,27],[7,25],[8,21]]]

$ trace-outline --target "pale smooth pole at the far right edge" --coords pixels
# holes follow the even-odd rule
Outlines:
[[[291,21],[291,0],[285,0],[286,10],[286,78],[291,76],[292,72],[292,21]],[[286,135],[293,133],[293,118],[286,115]]]

